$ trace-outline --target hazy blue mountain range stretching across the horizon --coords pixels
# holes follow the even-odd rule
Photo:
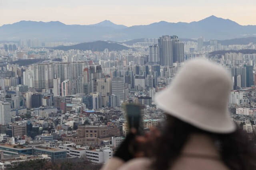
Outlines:
[[[19,21],[0,26],[0,40],[39,38],[42,42],[89,42],[97,40],[124,41],[141,37],[157,38],[178,35],[181,38],[233,39],[256,36],[256,25],[240,25],[229,19],[209,16],[199,21],[159,21],[148,25],[127,27],[110,20],[90,25],[66,25],[60,21]]]

